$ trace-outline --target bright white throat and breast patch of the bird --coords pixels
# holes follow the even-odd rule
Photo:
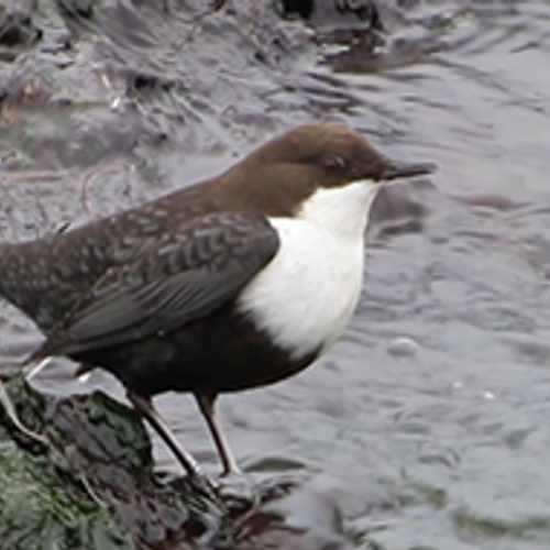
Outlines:
[[[238,307],[292,359],[323,351],[353,315],[377,189],[363,180],[318,189],[298,217],[270,218],[280,248],[244,288]]]

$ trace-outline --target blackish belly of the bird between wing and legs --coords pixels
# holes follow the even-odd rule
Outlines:
[[[277,382],[310,364],[317,352],[292,359],[228,306],[169,333],[74,359],[103,367],[129,389],[218,394]]]

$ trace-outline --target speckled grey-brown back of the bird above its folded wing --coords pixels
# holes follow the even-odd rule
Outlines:
[[[176,195],[193,197],[194,188],[66,233],[0,244],[0,295],[48,334],[109,270],[135,260],[147,245],[162,245],[200,216],[200,205],[178,212]]]

